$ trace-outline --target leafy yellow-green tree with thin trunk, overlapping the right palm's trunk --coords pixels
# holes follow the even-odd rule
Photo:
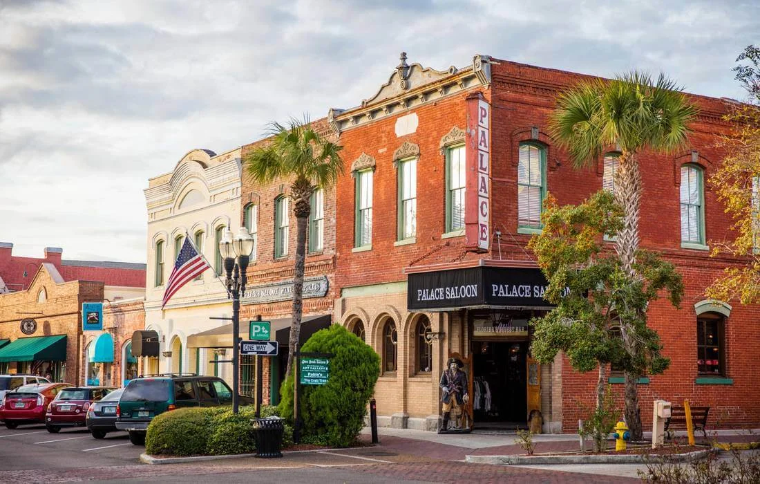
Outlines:
[[[607,415],[606,365],[635,374],[660,374],[670,365],[661,355],[657,332],[641,314],[662,290],[677,306],[683,295],[681,276],[673,264],[644,250],[636,254],[632,276],[615,253],[604,250],[603,234],[616,234],[622,227],[622,209],[611,193],[600,191],[581,205],[563,207],[547,196],[544,206],[543,231],[531,238],[529,247],[549,281],[545,298],[556,307],[531,320],[531,351],[542,363],[550,363],[562,351],[577,371],[597,368],[594,415]],[[621,339],[624,326],[636,335],[633,355]],[[595,441],[608,432],[603,425],[595,431]]]

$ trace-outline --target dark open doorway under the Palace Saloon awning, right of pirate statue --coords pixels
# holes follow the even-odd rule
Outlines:
[[[473,342],[475,428],[525,428],[527,341]]]

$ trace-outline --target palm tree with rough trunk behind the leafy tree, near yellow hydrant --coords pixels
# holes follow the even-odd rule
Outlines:
[[[642,279],[635,268],[641,201],[638,156],[647,150],[668,153],[682,148],[696,113],[674,81],[660,74],[653,82],[647,74],[631,72],[613,81],[581,82],[559,95],[549,116],[553,138],[568,151],[575,167],[593,166],[605,151],[619,151],[615,199],[623,209],[623,228],[615,247],[633,281]],[[637,319],[645,327],[646,314],[638,314]],[[621,321],[620,333],[629,358],[640,361],[636,325]],[[635,440],[641,440],[636,387],[640,376],[625,371],[625,420]]]

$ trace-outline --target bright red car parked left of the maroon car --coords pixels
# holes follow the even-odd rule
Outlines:
[[[0,404],[0,420],[8,428],[19,424],[45,423],[45,412],[55,395],[71,384],[23,385],[5,393]]]

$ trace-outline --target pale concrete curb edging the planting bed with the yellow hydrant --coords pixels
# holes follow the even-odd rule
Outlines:
[[[579,463],[648,463],[658,460],[665,462],[691,462],[707,457],[712,451],[694,451],[686,454],[666,455],[468,455],[465,462],[487,463],[497,466],[527,466],[534,464],[579,464]]]

